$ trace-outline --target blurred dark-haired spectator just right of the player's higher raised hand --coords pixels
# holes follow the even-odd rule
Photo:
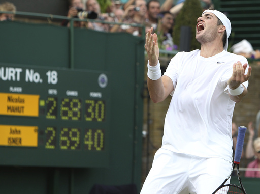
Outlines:
[[[158,22],[158,42],[161,45],[161,48],[166,50],[173,50],[173,24],[174,18],[173,15],[169,12],[162,12],[159,14],[159,22]]]

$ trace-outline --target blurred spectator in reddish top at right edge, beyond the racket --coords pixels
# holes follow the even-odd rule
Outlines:
[[[254,140],[254,152],[255,160],[247,165],[245,177],[260,178],[260,137]]]

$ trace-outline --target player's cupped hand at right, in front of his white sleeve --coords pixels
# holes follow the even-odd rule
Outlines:
[[[247,74],[245,75],[247,65],[248,64],[245,63],[242,66],[242,63],[240,61],[233,64],[233,73],[231,78],[228,80],[228,85],[230,89],[236,89],[237,87],[239,87],[240,84],[249,79],[249,77],[251,76],[252,68],[248,67]]]

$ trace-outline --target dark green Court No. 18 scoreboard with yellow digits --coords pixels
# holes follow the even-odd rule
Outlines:
[[[0,165],[107,167],[105,71],[0,64]]]

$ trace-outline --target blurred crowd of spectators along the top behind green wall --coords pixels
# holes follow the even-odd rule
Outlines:
[[[181,10],[185,0],[111,0],[102,11],[98,0],[68,0],[68,18],[79,18],[74,21],[74,27],[86,27],[103,32],[127,32],[134,36],[142,36],[152,26],[157,33],[161,48],[177,49],[173,43],[174,19]],[[200,0],[204,10],[214,7],[211,0]],[[104,6],[103,6],[104,7]],[[0,5],[2,11],[12,11],[16,8],[12,3]],[[8,16],[7,16],[8,15]],[[13,19],[14,14],[2,14],[0,19]],[[85,20],[80,20],[85,19]],[[90,19],[86,22],[86,19]],[[94,21],[93,21],[94,20]],[[116,24],[115,24],[116,23]],[[118,23],[118,24],[117,24]],[[133,26],[133,24],[140,24]],[[61,25],[70,26],[70,20],[63,20]],[[144,32],[146,33],[146,32]]]

